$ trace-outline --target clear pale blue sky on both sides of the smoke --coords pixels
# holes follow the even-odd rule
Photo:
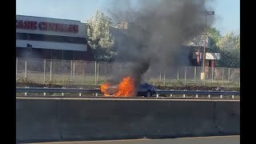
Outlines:
[[[121,1],[121,0],[120,0]],[[146,0],[144,0],[146,1]],[[209,0],[214,27],[226,34],[240,33],[240,0]],[[113,5],[109,0],[16,0],[16,14],[86,22],[96,10]]]

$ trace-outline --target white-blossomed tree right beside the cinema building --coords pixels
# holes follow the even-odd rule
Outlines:
[[[111,19],[97,10],[87,25],[88,43],[94,52],[94,60],[109,61],[114,54],[114,38],[110,34]]]

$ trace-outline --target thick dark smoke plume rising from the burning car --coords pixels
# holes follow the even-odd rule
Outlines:
[[[184,42],[203,34],[205,30],[205,0],[112,2],[119,14],[126,14],[122,18],[131,21],[124,36],[115,38],[116,61],[129,64],[126,71],[114,74],[111,79],[114,83],[131,76],[135,79],[135,86],[138,86],[150,66],[173,66]],[[120,18],[119,21],[122,21]]]

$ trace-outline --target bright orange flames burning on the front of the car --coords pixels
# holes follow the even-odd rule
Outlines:
[[[104,96],[110,96],[107,89],[110,88],[110,84],[106,83],[101,86]],[[122,81],[115,88],[114,97],[132,97],[134,96],[134,80],[130,77],[122,78]]]

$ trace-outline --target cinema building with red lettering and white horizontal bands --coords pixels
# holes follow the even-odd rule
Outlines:
[[[66,19],[16,15],[16,57],[92,60],[86,24]]]

